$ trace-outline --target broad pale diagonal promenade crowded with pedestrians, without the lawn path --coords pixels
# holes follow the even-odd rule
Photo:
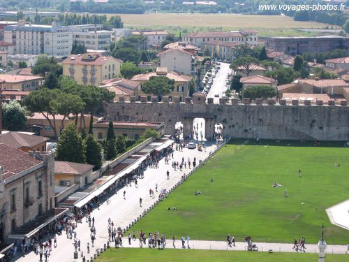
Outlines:
[[[197,165],[200,160],[205,160],[210,152],[216,150],[216,145],[207,144],[206,152],[199,152],[198,150],[184,149],[183,152],[174,151],[174,161],[181,161],[184,157],[187,161],[190,157],[191,162],[193,163],[193,158],[196,157]],[[90,238],[90,228],[86,219],[82,219],[82,224],[77,224],[77,239],[80,239],[82,249],[81,251],[85,254],[87,259],[90,258],[91,254],[96,252],[96,248],[101,248],[107,242],[107,220],[110,217],[114,221],[114,226],[126,228],[129,226],[132,221],[139,219],[140,215],[151,208],[151,206],[158,201],[158,193],[156,198],[151,198],[149,196],[149,189],[155,191],[155,185],[158,184],[158,191],[161,189],[172,189],[178,182],[181,180],[181,176],[188,174],[192,169],[187,168],[183,171],[174,171],[171,166],[172,159],[170,164],[165,164],[165,159],[159,161],[158,168],[147,168],[144,171],[144,178],[138,180],[138,188],[132,184],[131,187],[124,187],[117,191],[117,194],[114,194],[110,197],[110,203],[107,204],[107,201],[101,205],[99,210],[95,209],[91,212],[91,217],[95,219],[95,228],[96,228],[96,240],[95,247],[91,247],[91,238]],[[193,166],[192,166],[193,168]],[[170,171],[170,180],[167,179],[166,172]],[[126,191],[126,200],[124,200],[122,194]],[[140,208],[140,198],[142,198],[142,208]],[[91,254],[87,255],[87,242],[90,242]],[[70,240],[66,237],[66,233],[62,235],[57,235],[57,248],[53,248],[51,255],[49,256],[48,261],[50,262],[71,262],[75,261],[73,259],[73,240]],[[24,257],[17,258],[18,262],[31,262],[39,261],[39,256],[31,252]],[[79,257],[78,261],[82,261],[82,258]]]

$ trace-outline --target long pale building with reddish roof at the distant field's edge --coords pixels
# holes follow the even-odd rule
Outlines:
[[[196,45],[199,48],[204,48],[205,43],[219,41],[219,42],[233,42],[240,45],[256,45],[258,42],[257,31],[255,30],[239,30],[239,31],[199,31],[193,34],[184,36],[186,43]]]

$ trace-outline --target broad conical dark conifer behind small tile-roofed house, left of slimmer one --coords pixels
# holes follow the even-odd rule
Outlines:
[[[84,142],[74,123],[69,123],[58,138],[56,158],[59,161],[84,163]]]

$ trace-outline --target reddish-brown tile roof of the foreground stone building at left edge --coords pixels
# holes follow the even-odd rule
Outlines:
[[[3,179],[5,180],[41,162],[22,150],[17,150],[9,145],[0,143],[0,166],[5,171],[3,174]]]

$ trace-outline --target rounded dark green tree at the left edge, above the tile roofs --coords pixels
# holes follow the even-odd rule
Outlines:
[[[15,100],[2,104],[2,125],[8,131],[22,131],[27,124],[27,110]]]

